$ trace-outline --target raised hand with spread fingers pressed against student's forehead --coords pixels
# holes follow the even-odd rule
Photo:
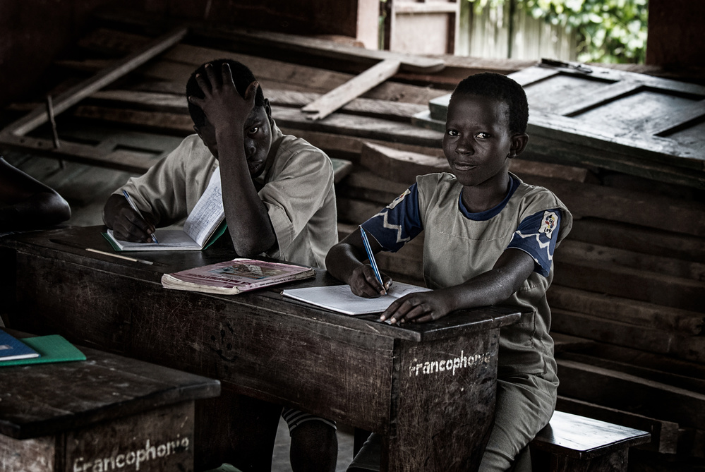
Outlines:
[[[210,64],[205,66],[207,80],[203,75],[196,75],[195,80],[203,91],[203,98],[188,97],[188,100],[200,107],[210,124],[216,129],[236,126],[240,130],[255,107],[255,92],[259,84],[251,83],[241,97],[235,88],[230,66],[224,63],[221,71],[215,71]]]

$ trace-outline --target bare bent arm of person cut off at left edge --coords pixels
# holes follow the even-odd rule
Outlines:
[[[69,218],[71,207],[56,190],[0,156],[0,233],[47,228]]]

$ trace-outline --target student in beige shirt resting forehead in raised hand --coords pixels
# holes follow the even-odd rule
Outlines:
[[[195,134],[109,197],[103,212],[106,226],[116,237],[150,241],[155,226],[179,222],[193,210],[210,176],[219,171],[225,219],[237,255],[325,267],[327,250],[337,242],[333,169],[327,155],[279,131],[254,75],[237,61],[203,64],[188,80],[186,95]],[[145,219],[131,209],[123,189]],[[204,445],[213,446],[217,440],[228,444],[221,447],[225,452],[205,452],[212,456],[204,457],[203,465],[224,461],[243,471],[270,470],[282,413],[289,423],[294,472],[335,470],[332,421],[290,409],[282,412],[281,406],[276,409],[226,390],[217,401],[218,411],[208,413],[213,418],[207,425],[212,439]]]

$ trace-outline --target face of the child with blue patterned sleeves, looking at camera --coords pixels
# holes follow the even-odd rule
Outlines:
[[[524,150],[517,149],[509,128],[509,106],[492,97],[459,95],[449,106],[443,152],[453,174],[464,186],[478,186],[493,178],[503,178],[509,159]],[[524,146],[526,143],[524,143]]]

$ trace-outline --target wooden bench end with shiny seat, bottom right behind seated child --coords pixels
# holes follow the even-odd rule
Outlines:
[[[650,440],[646,431],[555,411],[529,447],[536,472],[626,472],[629,447]]]

